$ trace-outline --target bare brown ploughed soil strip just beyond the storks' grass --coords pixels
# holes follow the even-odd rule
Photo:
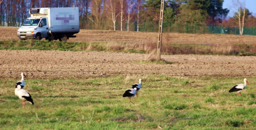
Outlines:
[[[141,64],[148,54],[0,50],[0,77],[59,79],[133,74],[165,74],[181,77],[252,77],[256,75],[253,56],[162,55],[173,64]],[[95,73],[95,74],[94,74]]]

